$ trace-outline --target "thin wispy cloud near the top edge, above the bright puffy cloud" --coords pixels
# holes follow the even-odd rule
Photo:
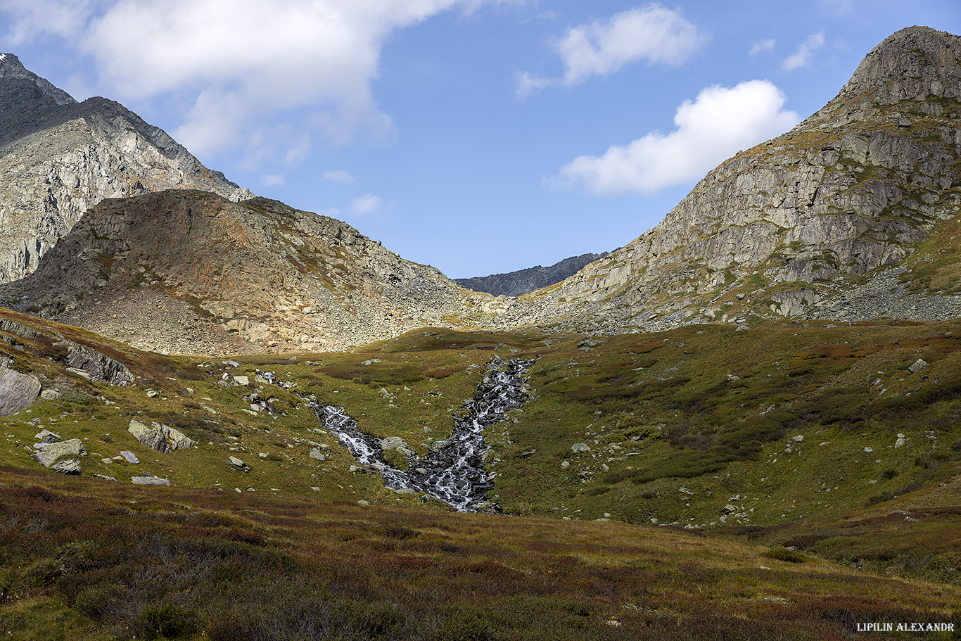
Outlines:
[[[592,76],[606,76],[631,62],[681,64],[702,44],[697,27],[678,11],[650,4],[642,9],[617,13],[607,20],[595,20],[571,27],[554,42],[554,51],[564,65],[563,78],[540,78],[528,72],[517,74],[517,95],[527,97],[543,86],[575,86]]]

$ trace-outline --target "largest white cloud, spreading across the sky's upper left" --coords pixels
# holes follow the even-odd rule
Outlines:
[[[281,111],[312,111],[304,125],[334,143],[389,135],[371,92],[385,40],[480,1],[4,0],[0,15],[14,42],[69,38],[121,100],[186,97],[174,135],[205,154],[276,137],[261,123]],[[295,163],[308,147],[290,136],[274,153]]]

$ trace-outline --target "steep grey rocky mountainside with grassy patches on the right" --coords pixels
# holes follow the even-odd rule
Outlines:
[[[961,38],[888,37],[824,109],[711,171],[664,220],[505,322],[656,328],[799,314],[899,264],[961,206]]]

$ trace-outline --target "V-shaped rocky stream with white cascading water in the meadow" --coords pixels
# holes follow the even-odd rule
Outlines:
[[[533,360],[522,358],[506,363],[500,357],[491,358],[474,398],[456,413],[451,435],[426,456],[411,459],[411,471],[389,465],[384,460],[381,439],[360,431],[357,421],[343,407],[305,401],[358,463],[381,474],[386,487],[426,492],[464,512],[497,511],[485,500],[493,483],[483,462],[490,451],[483,431],[530,399],[527,375],[531,364]],[[270,372],[259,374],[268,382],[275,380]]]

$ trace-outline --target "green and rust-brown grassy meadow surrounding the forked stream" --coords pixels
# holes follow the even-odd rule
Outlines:
[[[8,638],[842,639],[957,620],[958,323],[425,328],[228,362],[4,314],[136,376],[89,382],[56,340],[0,332],[13,369],[61,392],[0,418]],[[486,433],[503,514],[384,488],[298,396],[423,455],[494,355],[535,359],[533,398]],[[196,446],[160,454],[132,419]],[[29,457],[43,429],[83,440],[81,476]]]

